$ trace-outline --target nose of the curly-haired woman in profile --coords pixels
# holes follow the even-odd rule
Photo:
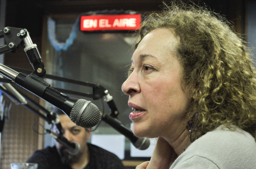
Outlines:
[[[140,92],[140,87],[138,83],[138,76],[135,74],[135,72],[132,72],[130,76],[124,81],[122,84],[122,91],[126,95],[132,95],[133,93]]]

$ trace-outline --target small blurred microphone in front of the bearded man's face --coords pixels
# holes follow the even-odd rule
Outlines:
[[[71,142],[68,141],[67,138],[65,138],[63,135],[61,134],[56,134],[54,132],[52,132],[51,130],[46,130],[47,133],[49,133],[56,141],[58,141],[58,143],[60,143],[61,145],[65,146],[68,150],[68,153],[71,155],[77,155],[77,153],[79,153],[80,151],[80,144],[77,142]]]

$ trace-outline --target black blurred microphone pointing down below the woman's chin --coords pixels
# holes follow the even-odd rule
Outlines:
[[[102,115],[101,119],[108,123],[110,126],[112,126],[115,130],[120,132],[122,135],[127,137],[132,142],[132,144],[139,150],[146,150],[150,146],[150,140],[148,138],[136,137],[132,133],[132,131],[122,125],[119,120],[112,118],[111,116],[108,116],[106,114]]]

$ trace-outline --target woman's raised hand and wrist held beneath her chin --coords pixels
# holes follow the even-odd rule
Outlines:
[[[158,137],[150,161],[141,163],[136,169],[168,169],[177,157],[172,146],[162,137]]]

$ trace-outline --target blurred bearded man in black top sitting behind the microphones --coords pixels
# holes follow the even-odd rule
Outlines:
[[[87,143],[91,132],[76,126],[70,118],[58,108],[54,108],[63,128],[63,136],[69,141],[80,144],[76,155],[68,153],[67,149],[55,141],[55,146],[37,150],[27,160],[38,163],[38,169],[124,169],[121,160],[113,153],[96,145]],[[54,128],[56,130],[56,127]]]

